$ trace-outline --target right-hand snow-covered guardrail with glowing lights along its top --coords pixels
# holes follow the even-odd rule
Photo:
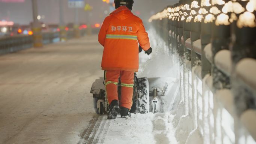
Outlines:
[[[191,132],[184,135],[186,144],[195,143],[194,135],[202,138],[198,144],[256,143],[256,8],[251,4],[180,0],[149,20],[180,63],[182,119],[193,120],[193,128],[178,128]]]

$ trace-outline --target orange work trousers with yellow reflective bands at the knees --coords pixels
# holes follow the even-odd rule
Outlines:
[[[134,71],[106,70],[105,86],[106,96],[109,104],[113,100],[118,100],[118,82],[121,80],[120,107],[131,109],[134,85]]]

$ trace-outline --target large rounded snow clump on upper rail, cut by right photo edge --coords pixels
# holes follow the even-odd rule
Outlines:
[[[256,89],[256,59],[244,58],[238,62],[236,67],[237,76],[240,77],[248,86]]]

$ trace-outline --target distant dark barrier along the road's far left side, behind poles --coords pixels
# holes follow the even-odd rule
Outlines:
[[[80,30],[80,35],[85,36],[86,30]],[[74,31],[67,31],[67,39],[75,37]],[[45,32],[43,33],[43,44],[55,43],[60,41],[59,32]],[[12,53],[19,50],[33,47],[33,36],[17,35],[0,37],[0,55]]]

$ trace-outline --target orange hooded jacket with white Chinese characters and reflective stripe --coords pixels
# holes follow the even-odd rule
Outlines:
[[[126,6],[121,6],[103,22],[98,41],[104,46],[102,70],[138,71],[138,43],[150,48],[143,22]]]

